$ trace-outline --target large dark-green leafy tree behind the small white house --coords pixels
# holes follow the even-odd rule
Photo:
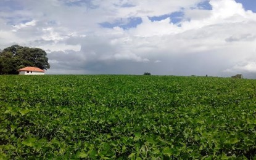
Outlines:
[[[43,49],[14,45],[0,51],[0,74],[18,74],[20,68],[36,66],[42,70],[50,68]]]

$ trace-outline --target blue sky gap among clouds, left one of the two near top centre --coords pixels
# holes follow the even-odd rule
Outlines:
[[[128,30],[129,28],[135,28],[137,25],[142,23],[142,19],[139,17],[134,17],[134,18],[128,18],[128,19],[120,19],[117,20],[114,23],[109,23],[109,22],[104,22],[100,23],[104,28],[114,28],[115,26],[119,26],[123,28],[124,30]]]

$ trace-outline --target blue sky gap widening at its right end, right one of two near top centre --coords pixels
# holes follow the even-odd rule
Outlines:
[[[184,12],[173,12],[172,14],[165,14],[165,15],[160,15],[157,17],[149,17],[149,19],[154,22],[154,21],[160,21],[160,20],[165,20],[166,18],[170,17],[171,18],[171,23],[179,23],[181,20],[183,20],[183,15]]]

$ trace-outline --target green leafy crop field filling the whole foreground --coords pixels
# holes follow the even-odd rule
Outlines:
[[[0,76],[0,159],[254,159],[256,81]]]

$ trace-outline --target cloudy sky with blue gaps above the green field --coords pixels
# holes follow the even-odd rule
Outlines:
[[[0,49],[44,49],[46,74],[256,78],[255,28],[255,0],[0,0]]]

